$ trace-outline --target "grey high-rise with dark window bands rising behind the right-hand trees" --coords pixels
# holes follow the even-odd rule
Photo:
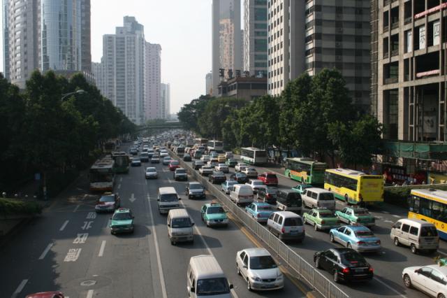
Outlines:
[[[336,68],[353,104],[369,110],[369,2],[269,0],[269,93],[281,94],[304,71]]]

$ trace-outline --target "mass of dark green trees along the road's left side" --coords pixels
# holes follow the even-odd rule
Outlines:
[[[83,169],[102,143],[136,129],[81,73],[68,80],[53,71],[31,73],[23,92],[0,73],[0,121],[3,190],[32,173]]]

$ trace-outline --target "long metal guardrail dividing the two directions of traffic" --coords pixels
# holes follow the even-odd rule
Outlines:
[[[173,153],[173,155],[175,155],[175,153]],[[175,156],[177,157],[177,155]],[[209,183],[207,178],[200,176],[198,171],[194,170],[189,164],[186,164],[186,162],[183,162],[181,158],[178,157],[178,159],[180,164],[184,169],[189,171],[194,179],[198,180],[198,182],[203,185],[207,185],[206,189],[217,197],[228,211],[233,213],[240,222],[251,229],[251,232],[267,243],[267,245],[270,246],[270,248],[272,248],[272,250],[274,250],[274,252],[277,253],[289,267],[291,267],[291,269],[298,273],[298,275],[307,281],[309,285],[312,285],[314,290],[327,298],[349,298],[349,295],[338,288],[335,283],[332,283],[332,281],[323,276],[323,274],[312,266],[312,264],[309,264],[306,260],[300,257],[298,253],[295,253],[295,251],[289,248],[283,241],[279,240],[277,236],[274,236],[274,234],[259,222],[253,220],[247,213],[234,204],[226,194],[221,192],[218,187]]]

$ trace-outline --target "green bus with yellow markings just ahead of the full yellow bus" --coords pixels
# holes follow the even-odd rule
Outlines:
[[[301,183],[323,185],[325,169],[328,169],[325,162],[316,162],[308,157],[289,157],[286,158],[284,175]]]

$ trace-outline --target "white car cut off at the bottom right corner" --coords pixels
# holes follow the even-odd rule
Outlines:
[[[447,297],[447,267],[439,264],[406,267],[402,271],[406,288],[415,288],[431,297]]]

